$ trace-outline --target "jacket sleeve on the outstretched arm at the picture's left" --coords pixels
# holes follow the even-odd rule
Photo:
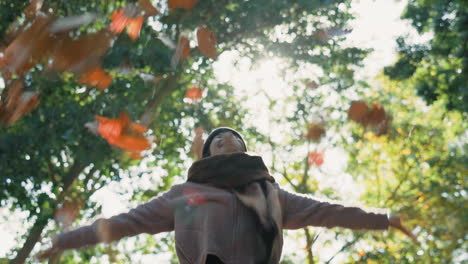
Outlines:
[[[111,242],[141,233],[156,234],[174,229],[174,188],[139,205],[128,213],[101,218],[92,225],[60,234],[54,246],[60,249],[79,248],[99,242]]]

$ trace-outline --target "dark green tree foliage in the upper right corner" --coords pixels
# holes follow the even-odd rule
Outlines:
[[[424,44],[397,40],[399,59],[385,68],[395,80],[408,86],[426,102],[443,101],[448,110],[467,112],[468,100],[468,5],[463,0],[408,2],[402,18],[419,33],[433,37]]]

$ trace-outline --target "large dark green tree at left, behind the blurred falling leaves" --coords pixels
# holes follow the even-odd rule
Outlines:
[[[104,73],[101,68],[84,73],[70,68],[49,72],[50,60],[43,60],[42,56],[37,61],[34,58],[34,65],[22,65],[24,72],[19,72],[20,69],[15,69],[13,74],[2,72],[6,83],[2,100],[7,98],[5,91],[11,89],[15,81],[23,82],[26,90],[41,96],[39,106],[30,115],[0,130],[2,205],[11,202],[13,208],[28,211],[29,220],[34,222],[24,235],[25,242],[13,263],[23,263],[30,256],[57,210],[66,208],[67,204],[79,204],[75,209],[78,212],[93,211],[95,205],[89,202],[89,197],[138,164],[122,156],[120,150],[110,147],[104,139],[86,131],[84,125],[92,121],[94,115],[115,118],[126,110],[131,120],[140,120],[150,129],[150,134],[161,139],[153,145],[151,154],[147,154],[155,157],[151,165],[168,172],[167,185],[161,189],[168,188],[171,179],[182,174],[180,164],[184,157],[180,157],[180,151],[188,150],[190,132],[187,131],[192,129],[185,124],[200,124],[207,129],[219,125],[242,127],[243,111],[231,97],[231,88],[210,81],[211,63],[202,55],[206,55],[206,51],[200,48],[198,52],[193,47],[191,56],[185,60],[174,59],[175,51],[170,43],[178,43],[181,36],[195,41],[194,31],[208,27],[214,32],[208,34],[208,42],[215,42],[216,36],[217,51],[235,49],[241,56],[253,59],[265,55],[284,57],[296,67],[304,62],[313,63],[324,71],[337,73],[330,79],[337,89],[351,85],[343,81],[352,76],[349,65],[358,63],[365,55],[359,49],[342,49],[338,45],[339,32],[351,18],[347,12],[349,1],[210,0],[199,1],[193,9],[168,9],[167,2],[163,1],[156,6],[160,14],[150,15],[151,10],[143,8],[145,18],[150,17],[151,23],[143,23],[138,33],[135,25],[141,21],[139,13],[128,15],[127,12],[131,13],[135,6],[140,10],[138,8],[147,3],[33,0],[29,5],[27,1],[2,2],[5,8],[1,11],[0,33],[4,36],[4,47],[10,47],[18,34],[27,32],[31,23],[42,19],[36,12],[36,7],[41,5],[51,19],[83,12],[100,14],[93,22],[88,21],[91,24],[66,29],[71,37],[62,36],[65,42],[89,36],[111,40],[109,49],[103,48],[106,42],[96,42],[99,52],[93,59],[102,58]],[[135,19],[128,36],[119,35],[113,29],[112,23],[117,19],[125,23]],[[202,46],[200,40],[198,46]],[[92,46],[87,47],[90,50],[85,54],[94,54]],[[79,51],[82,51],[81,46],[65,54]],[[8,63],[3,60],[1,66],[5,69]],[[92,74],[107,74],[106,83],[111,78],[111,84],[102,89],[107,85],[99,81],[97,86],[103,91],[96,91],[92,88],[96,85]],[[341,75],[348,78],[341,78]],[[183,97],[192,86],[201,86],[207,96],[201,102],[187,105]]]

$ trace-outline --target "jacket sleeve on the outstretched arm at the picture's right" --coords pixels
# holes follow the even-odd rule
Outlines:
[[[321,202],[311,197],[279,190],[283,228],[298,229],[308,225],[326,228],[387,229],[386,214],[366,212],[358,207]]]

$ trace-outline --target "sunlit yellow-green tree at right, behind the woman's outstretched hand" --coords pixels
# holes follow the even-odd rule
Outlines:
[[[447,111],[443,102],[428,107],[405,82],[379,80],[369,100],[385,105],[392,123],[381,136],[352,125],[352,139],[346,147],[351,157],[349,170],[366,184],[363,198],[407,216],[421,244],[391,233],[377,239],[375,249],[369,251],[361,249],[365,243],[357,242],[366,239],[368,243],[367,239],[375,241],[376,237],[360,236],[344,249],[357,248],[349,263],[460,262],[465,246],[464,234],[458,230],[467,228],[462,114]]]

